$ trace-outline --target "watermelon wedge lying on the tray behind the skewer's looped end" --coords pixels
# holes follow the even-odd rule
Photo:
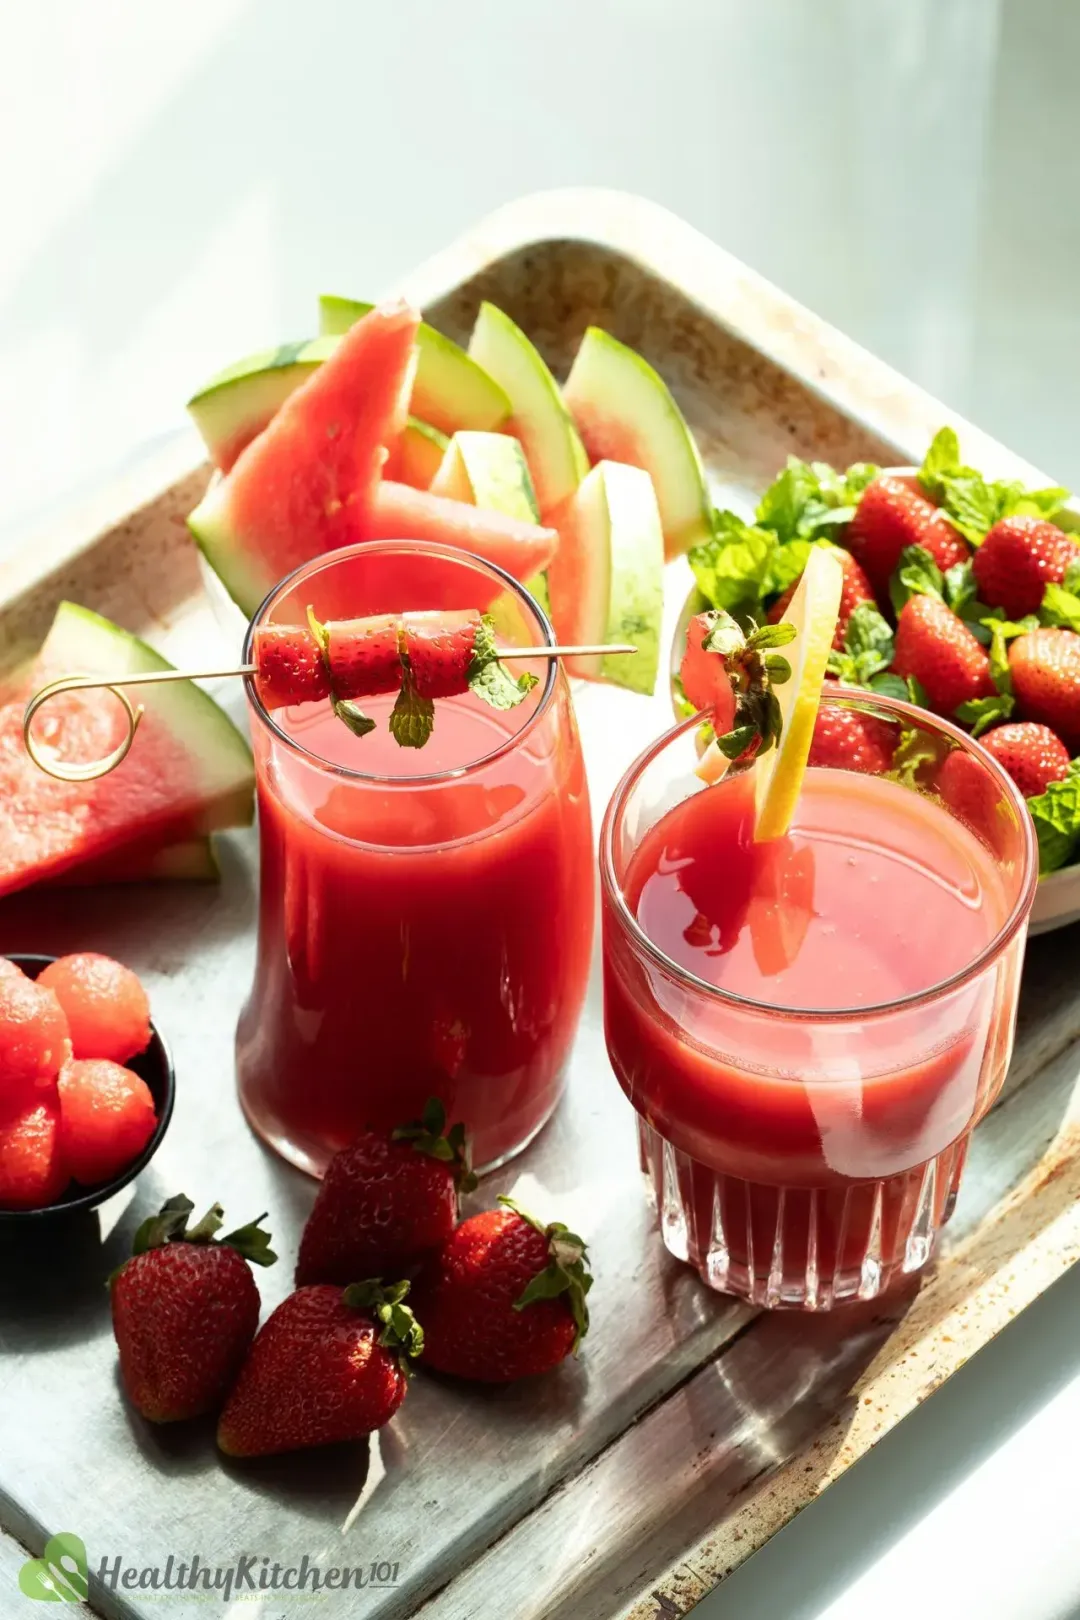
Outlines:
[[[86,608],[60,603],[28,677],[28,693],[70,674],[123,680],[170,666],[152,648]],[[0,894],[84,860],[147,849],[251,821],[254,771],[228,716],[191,682],[144,687],[146,708],[126,760],[92,782],[62,782],[23,745],[24,698],[0,706]],[[107,692],[68,692],[34,721],[39,745],[65,760],[97,760],[125,719]]]

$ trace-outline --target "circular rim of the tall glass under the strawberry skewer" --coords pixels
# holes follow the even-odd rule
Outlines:
[[[520,580],[515,580],[513,575],[507,573],[507,570],[499,567],[497,562],[487,562],[484,557],[478,557],[476,552],[463,551],[460,546],[442,546],[439,544],[439,541],[364,539],[355,546],[340,546],[337,551],[319,552],[317,557],[311,557],[308,562],[301,562],[298,569],[293,569],[291,573],[287,573],[285,578],[279,580],[274,590],[267,591],[267,595],[262,598],[262,601],[259,603],[259,606],[256,608],[248,622],[248,629],[244,632],[243,663],[244,664],[253,663],[251,653],[254,643],[254,632],[257,625],[264,622],[266,616],[270,612],[274,604],[288,590],[291,590],[296,585],[296,582],[301,580],[306,573],[317,573],[324,567],[329,567],[335,562],[343,562],[348,557],[359,557],[359,556],[371,557],[376,554],[387,556],[400,552],[410,557],[418,557],[418,556],[440,557],[447,562],[466,564],[478,573],[487,573],[500,585],[508,586],[520,599],[526,612],[531,612],[539,629],[541,643],[544,646],[555,645],[555,632],[552,630],[551,619],[547,617],[541,604],[536,601],[533,593],[528,591],[525,585],[521,585]],[[487,753],[479,755],[476,760],[468,760],[465,765],[452,765],[442,771],[426,771],[418,776],[392,776],[382,771],[361,771],[351,765],[335,765],[334,760],[327,760],[324,755],[314,753],[311,748],[306,748],[303,742],[298,742],[295,737],[290,737],[290,734],[282,726],[277,724],[277,721],[274,719],[270,711],[264,706],[262,698],[256,690],[254,676],[244,676],[244,692],[253,713],[266,726],[266,729],[279,742],[285,744],[287,748],[300,755],[301,760],[308,760],[309,763],[317,765],[321,771],[327,771],[332,776],[342,776],[348,781],[377,784],[379,787],[431,787],[436,782],[460,781],[461,778],[473,774],[473,771],[479,771],[486,765],[491,765],[494,760],[502,758],[502,755],[508,753],[512,748],[517,748],[518,744],[525,737],[528,737],[528,734],[533,731],[538,721],[551,708],[557,677],[559,677],[559,659],[549,658],[547,679],[544,682],[544,690],[539,695],[536,708],[525,721],[521,729],[515,731],[512,735],[507,735],[507,739],[500,742],[495,748],[491,748]]]

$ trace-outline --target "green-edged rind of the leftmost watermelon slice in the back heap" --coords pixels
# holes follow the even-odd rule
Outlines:
[[[238,360],[193,394],[188,411],[214,465],[230,467],[240,449],[262,433],[288,395],[335,348],[334,337],[282,343]]]

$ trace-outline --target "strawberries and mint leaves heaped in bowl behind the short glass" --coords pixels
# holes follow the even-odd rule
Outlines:
[[[1052,870],[1080,850],[1080,546],[1052,522],[1065,499],[989,483],[942,428],[912,475],[792,458],[756,525],[717,514],[690,562],[716,609],[777,624],[806,548],[831,544],[844,567],[831,674],[968,727],[1028,800]],[[831,705],[810,758],[886,771],[894,744],[886,723]]]

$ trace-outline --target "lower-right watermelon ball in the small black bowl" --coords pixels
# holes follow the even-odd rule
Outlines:
[[[76,1181],[96,1187],[138,1158],[157,1124],[146,1081],[107,1058],[60,1072],[60,1150]]]

